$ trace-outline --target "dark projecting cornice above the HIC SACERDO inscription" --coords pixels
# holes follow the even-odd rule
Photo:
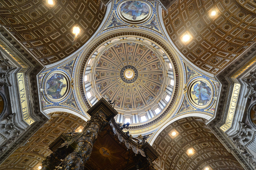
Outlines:
[[[207,126],[214,132],[226,148],[232,152],[245,169],[253,169],[253,167],[247,164],[245,159],[240,155],[240,153],[238,153],[227,135],[219,128],[219,126],[223,124],[226,119],[232,87],[234,85],[234,82],[230,77],[254,57],[252,54],[254,54],[255,50],[256,45],[254,44],[216,75],[217,80],[221,83],[219,102],[217,104],[215,117],[207,124]]]

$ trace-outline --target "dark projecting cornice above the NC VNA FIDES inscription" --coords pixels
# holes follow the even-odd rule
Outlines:
[[[20,137],[7,148],[2,155],[0,155],[0,164],[19,146],[26,142],[41,126],[48,121],[49,117],[43,114],[40,110],[40,101],[37,87],[37,74],[39,74],[44,66],[2,25],[0,25],[1,39],[8,45],[8,47],[17,54],[18,57],[26,64],[29,69],[26,70],[26,83],[27,83],[27,97],[30,99],[31,117],[36,122],[26,129],[25,132],[20,134]]]

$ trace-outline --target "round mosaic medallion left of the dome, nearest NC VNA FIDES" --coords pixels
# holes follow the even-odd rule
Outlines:
[[[52,99],[62,98],[67,91],[67,79],[60,73],[49,76],[46,81],[46,93]]]

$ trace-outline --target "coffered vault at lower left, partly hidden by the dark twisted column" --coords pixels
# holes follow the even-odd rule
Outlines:
[[[1,170],[38,169],[46,156],[52,153],[49,144],[62,133],[69,133],[86,125],[81,118],[68,113],[53,113],[50,117],[44,126],[1,164]]]

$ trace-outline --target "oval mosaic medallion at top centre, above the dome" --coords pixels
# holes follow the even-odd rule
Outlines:
[[[119,6],[120,16],[128,22],[142,22],[151,15],[151,8],[146,2],[125,1]]]

